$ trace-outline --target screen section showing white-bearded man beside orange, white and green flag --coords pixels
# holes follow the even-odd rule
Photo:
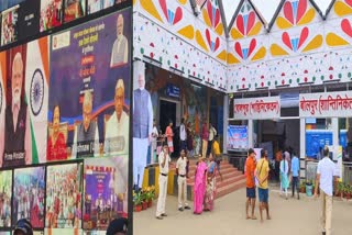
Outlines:
[[[47,37],[0,54],[0,167],[45,160]]]

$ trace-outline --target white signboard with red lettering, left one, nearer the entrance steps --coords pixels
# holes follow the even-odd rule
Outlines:
[[[279,97],[262,97],[233,100],[234,120],[279,119]]]

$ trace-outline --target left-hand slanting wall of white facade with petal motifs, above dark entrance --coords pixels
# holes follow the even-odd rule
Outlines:
[[[133,3],[134,58],[152,59],[160,67],[226,91],[227,40],[218,0],[205,1],[197,18],[189,0]]]

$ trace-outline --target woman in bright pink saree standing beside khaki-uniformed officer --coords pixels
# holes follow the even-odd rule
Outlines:
[[[194,186],[194,213],[201,214],[206,194],[207,164],[199,157]]]

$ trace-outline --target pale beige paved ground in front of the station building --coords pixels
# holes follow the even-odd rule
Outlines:
[[[320,200],[301,197],[285,200],[277,190],[270,193],[272,221],[246,221],[244,211],[245,189],[235,191],[216,201],[213,212],[194,215],[193,212],[178,212],[177,199],[167,197],[168,216],[158,221],[153,208],[133,214],[133,234],[144,235],[319,235]],[[258,210],[256,209],[258,217]],[[333,235],[352,234],[352,201],[334,200]]]

